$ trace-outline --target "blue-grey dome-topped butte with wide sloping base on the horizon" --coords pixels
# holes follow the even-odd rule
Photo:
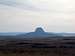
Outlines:
[[[38,28],[36,28],[36,30],[34,32],[29,32],[29,33],[26,33],[22,36],[26,37],[26,38],[37,38],[37,37],[56,36],[56,34],[45,32],[41,27],[38,27]]]

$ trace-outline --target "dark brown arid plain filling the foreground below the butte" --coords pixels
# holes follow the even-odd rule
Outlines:
[[[75,56],[75,39],[0,40],[0,56]]]

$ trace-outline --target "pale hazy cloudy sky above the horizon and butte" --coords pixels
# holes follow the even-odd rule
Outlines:
[[[75,32],[75,0],[0,0],[0,32]]]

